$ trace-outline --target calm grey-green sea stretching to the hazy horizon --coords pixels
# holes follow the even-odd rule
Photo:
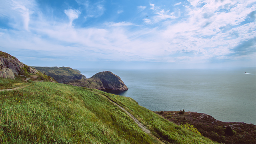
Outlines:
[[[79,69],[90,78],[100,69]],[[223,122],[256,124],[256,69],[108,70],[131,97],[152,111],[205,113]],[[246,73],[245,73],[246,72]],[[112,91],[113,92],[113,91]]]

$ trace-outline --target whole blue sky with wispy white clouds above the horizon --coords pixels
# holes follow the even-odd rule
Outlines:
[[[256,66],[256,0],[1,0],[0,50],[30,66]]]

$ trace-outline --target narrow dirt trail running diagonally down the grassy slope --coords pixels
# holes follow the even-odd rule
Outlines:
[[[90,90],[91,91],[91,90]],[[94,92],[94,91],[91,91]],[[99,94],[98,92],[94,92],[96,94]],[[125,110],[122,106],[120,106],[119,104],[117,104],[116,102],[114,102],[113,100],[111,100],[110,98],[108,98],[108,96],[105,96],[104,94],[99,94],[101,96],[104,96],[105,98],[107,98],[110,102],[112,102],[113,104],[115,104],[116,106],[118,106],[120,109],[122,109],[124,112],[126,112],[126,114],[128,114],[128,116],[130,116],[130,118],[132,118],[132,120],[134,120],[134,122],[136,124],[138,124],[138,126],[147,134],[149,134],[150,136],[154,137],[160,144],[165,144],[162,140],[158,139],[156,136],[154,136],[153,134],[151,134],[150,130],[148,130],[146,128],[146,126],[144,126],[142,123],[140,123],[138,121],[137,118],[135,118],[132,114],[130,114],[127,110]]]

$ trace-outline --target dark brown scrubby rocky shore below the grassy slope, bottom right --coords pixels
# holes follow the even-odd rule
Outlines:
[[[197,112],[155,112],[175,124],[192,124],[203,136],[219,143],[255,144],[256,126],[244,122],[222,122],[210,115]]]

